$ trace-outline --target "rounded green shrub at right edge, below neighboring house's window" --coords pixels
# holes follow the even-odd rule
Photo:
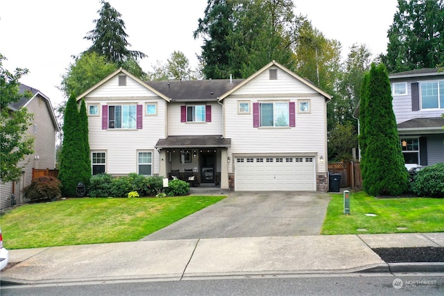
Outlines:
[[[444,163],[418,171],[413,181],[413,192],[418,196],[444,198]]]

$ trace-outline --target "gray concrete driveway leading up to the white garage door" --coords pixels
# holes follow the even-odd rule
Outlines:
[[[329,202],[323,192],[232,192],[141,241],[318,235]]]

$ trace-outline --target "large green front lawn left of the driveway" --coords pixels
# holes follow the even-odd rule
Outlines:
[[[137,241],[225,196],[79,198],[25,204],[0,217],[9,249]]]

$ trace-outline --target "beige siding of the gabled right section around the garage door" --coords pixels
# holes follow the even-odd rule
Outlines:
[[[264,88],[261,85],[268,85]],[[248,87],[251,86],[251,87]],[[248,89],[248,92],[247,92]],[[257,90],[261,90],[258,92]],[[267,96],[283,92],[282,96]],[[255,92],[256,90],[256,92]],[[238,101],[250,101],[250,114],[237,114]],[[310,112],[298,113],[298,100],[310,101]],[[295,128],[253,128],[253,103],[261,101],[292,101],[296,105]],[[224,99],[225,134],[231,139],[228,157],[243,153],[327,155],[325,98],[278,69],[278,80],[268,80],[268,71],[248,82],[244,88]],[[247,136],[246,136],[247,135]],[[316,159],[316,163],[318,159]],[[233,172],[232,163],[228,171]],[[325,172],[325,166],[317,166],[317,172]]]

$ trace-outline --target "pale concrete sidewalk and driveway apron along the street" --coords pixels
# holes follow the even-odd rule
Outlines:
[[[375,247],[444,247],[444,233],[137,241],[10,250],[1,281],[181,280],[347,272],[444,272],[444,263],[385,263]]]

